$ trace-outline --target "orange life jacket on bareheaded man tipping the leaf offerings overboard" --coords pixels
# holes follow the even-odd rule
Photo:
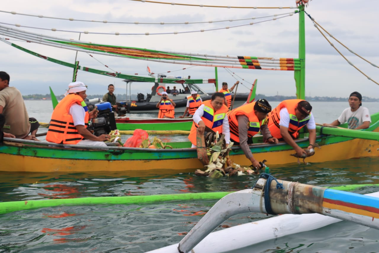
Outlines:
[[[205,126],[208,126],[213,131],[218,131],[219,134],[222,134],[222,122],[226,117],[226,113],[229,109],[225,104],[215,112],[213,106],[211,105],[211,100],[203,102],[204,104],[204,114],[201,117],[201,120],[204,121]],[[192,123],[191,131],[189,132],[188,139],[192,144],[196,145],[196,129],[199,127],[195,122]]]

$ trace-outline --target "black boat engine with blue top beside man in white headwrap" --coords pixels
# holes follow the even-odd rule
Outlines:
[[[116,120],[114,119],[114,113],[112,111],[111,103],[103,102],[95,104],[95,107],[99,110],[97,118],[91,120],[91,129],[96,136],[102,134],[109,134],[111,130],[116,130]]]

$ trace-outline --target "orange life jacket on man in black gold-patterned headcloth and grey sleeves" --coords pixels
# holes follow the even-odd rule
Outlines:
[[[260,126],[262,125],[264,120],[260,121],[258,117],[255,115],[254,105],[255,102],[245,104],[227,113],[229,120],[230,139],[233,142],[240,142],[237,120],[238,115],[246,115],[246,117],[249,118],[249,125],[246,126],[248,138],[252,138],[255,134],[259,132]]]

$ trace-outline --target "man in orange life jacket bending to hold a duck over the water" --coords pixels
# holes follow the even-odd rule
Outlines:
[[[308,101],[289,99],[280,102],[268,116],[268,128],[272,136],[291,145],[299,157],[307,154],[294,141],[298,138],[301,128],[307,125],[309,131],[308,149],[313,148],[316,141],[316,123],[311,111],[312,106]]]

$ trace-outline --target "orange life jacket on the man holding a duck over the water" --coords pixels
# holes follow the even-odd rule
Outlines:
[[[280,134],[280,110],[282,108],[287,108],[288,113],[290,114],[290,125],[288,126],[288,133],[290,133],[294,138],[298,138],[299,129],[303,128],[308,122],[310,117],[306,117],[303,120],[298,120],[295,114],[295,108],[302,99],[289,99],[284,100],[278,104],[278,106],[273,109],[268,115],[268,128],[273,137],[278,139],[283,138]]]

